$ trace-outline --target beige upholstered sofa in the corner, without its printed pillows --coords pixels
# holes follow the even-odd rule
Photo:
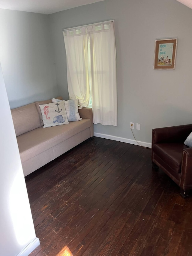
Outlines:
[[[88,107],[79,110],[80,121],[43,128],[38,104],[51,102],[39,101],[11,110],[24,176],[93,136],[92,109]]]

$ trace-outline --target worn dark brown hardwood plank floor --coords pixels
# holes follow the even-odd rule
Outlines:
[[[39,245],[30,255],[190,256],[192,196],[151,150],[94,137],[26,177]]]

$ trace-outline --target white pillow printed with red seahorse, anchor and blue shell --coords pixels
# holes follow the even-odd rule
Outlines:
[[[44,128],[68,124],[64,101],[39,105],[41,109]]]

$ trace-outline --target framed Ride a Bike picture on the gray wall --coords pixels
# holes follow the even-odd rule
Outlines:
[[[177,38],[155,40],[154,69],[175,69]]]

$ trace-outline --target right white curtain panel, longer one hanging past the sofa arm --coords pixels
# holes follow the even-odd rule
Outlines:
[[[116,47],[113,22],[90,26],[92,108],[94,124],[117,126]]]

